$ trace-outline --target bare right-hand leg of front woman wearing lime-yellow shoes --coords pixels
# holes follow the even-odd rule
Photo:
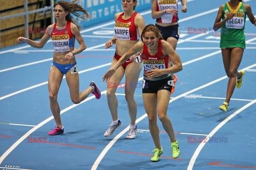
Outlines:
[[[171,142],[175,142],[174,130],[172,123],[167,116],[167,108],[169,106],[171,93],[167,90],[159,90],[157,92],[157,113],[159,120],[162,122],[163,128],[166,133],[169,135]]]

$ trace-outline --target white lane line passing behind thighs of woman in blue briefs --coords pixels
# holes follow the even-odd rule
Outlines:
[[[82,74],[82,73],[85,73],[85,72],[87,72],[87,71],[96,70],[96,69],[99,69],[99,68],[101,68],[101,67],[105,67],[105,66],[108,66],[108,65],[111,65],[111,63],[102,64],[102,65],[99,65],[99,66],[92,67],[92,68],[90,68],[90,69],[85,69],[85,70],[79,71],[78,73],[79,73],[79,74]],[[64,76],[63,79],[66,79],[66,76]],[[28,87],[28,88],[26,88],[26,89],[22,89],[22,90],[19,90],[19,91],[15,91],[15,92],[13,92],[13,93],[11,93],[11,94],[9,94],[9,95],[5,95],[5,96],[0,97],[0,100],[3,100],[3,99],[5,99],[5,98],[11,97],[11,96],[14,96],[14,95],[17,95],[17,94],[20,94],[21,92],[24,92],[24,91],[28,91],[28,90],[31,90],[31,89],[34,89],[34,88],[43,86],[43,85],[45,85],[45,84],[47,84],[47,83],[48,83],[48,81],[45,81],[45,82],[43,82],[43,83],[36,84],[35,86],[30,86],[30,87]]]

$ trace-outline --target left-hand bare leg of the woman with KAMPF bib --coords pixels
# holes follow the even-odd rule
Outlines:
[[[117,63],[116,58],[113,58],[111,67]],[[108,108],[112,116],[112,121],[118,120],[117,115],[117,106],[118,101],[115,95],[116,89],[122,78],[124,77],[124,68],[123,66],[120,66],[114,75],[110,78],[110,80],[107,82],[107,100],[108,100]]]

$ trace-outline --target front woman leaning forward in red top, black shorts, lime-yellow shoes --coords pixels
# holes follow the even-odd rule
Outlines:
[[[170,137],[173,158],[178,158],[180,155],[179,143],[175,139],[172,123],[167,116],[167,108],[173,86],[171,74],[181,71],[182,64],[179,55],[170,43],[162,39],[160,31],[155,25],[147,25],[141,33],[142,42],[138,42],[126,52],[115,65],[111,66],[102,78],[103,81],[109,81],[116,70],[129,57],[138,52],[141,53],[144,66],[143,103],[148,114],[149,130],[156,147],[153,150],[154,156],[151,158],[153,162],[157,162],[160,155],[163,154],[163,148],[159,139],[157,115],[162,122],[164,130]],[[134,57],[132,58],[133,60],[135,59]],[[169,67],[169,60],[174,64],[172,67]]]

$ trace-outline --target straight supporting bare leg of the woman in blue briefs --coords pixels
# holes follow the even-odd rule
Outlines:
[[[49,74],[48,89],[49,89],[50,107],[51,107],[52,115],[54,117],[54,120],[58,128],[62,128],[61,119],[60,119],[60,106],[57,101],[62,78],[63,78],[63,74],[60,72],[60,70],[57,69],[57,67],[52,66]]]

